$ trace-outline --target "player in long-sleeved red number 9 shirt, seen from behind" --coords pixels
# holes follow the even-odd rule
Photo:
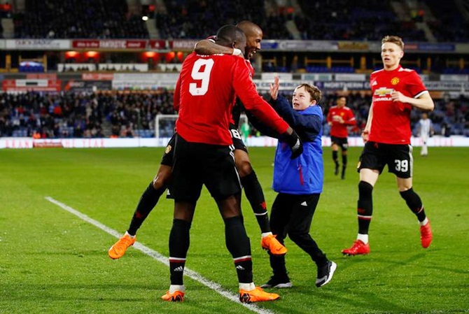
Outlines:
[[[238,27],[226,25],[219,29],[217,43],[244,51],[246,36]],[[251,245],[241,215],[241,184],[228,129],[236,96],[262,122],[285,136],[292,155],[297,157],[302,152],[295,131],[256,92],[244,59],[195,52],[186,57],[174,92],[179,117],[169,185],[174,198],[174,220],[169,235],[171,285],[162,296],[166,301],[182,301],[184,295],[183,270],[189,230],[203,185],[223,217],[225,242],[237,271],[240,301],[279,298],[278,294],[263,292],[253,283]]]

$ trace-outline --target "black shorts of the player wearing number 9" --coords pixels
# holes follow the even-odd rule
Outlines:
[[[202,185],[216,201],[241,192],[233,148],[231,145],[190,143],[178,134],[169,185],[172,198],[195,202],[200,197]]]

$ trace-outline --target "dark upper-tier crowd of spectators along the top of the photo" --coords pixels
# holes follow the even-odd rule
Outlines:
[[[402,21],[391,1],[369,0],[163,0],[155,12],[160,38],[204,38],[223,24],[252,20],[267,39],[292,39],[286,22],[293,22],[302,39],[377,41],[399,34],[404,41],[428,41],[416,22],[426,22],[439,42],[468,42],[468,22],[455,0],[425,1],[437,17],[426,20],[417,10]],[[269,3],[267,5],[266,3]],[[403,3],[403,1],[402,1]],[[295,9],[297,12],[295,12]],[[25,12],[13,14],[15,38],[148,38],[136,8],[126,0],[25,0]]]

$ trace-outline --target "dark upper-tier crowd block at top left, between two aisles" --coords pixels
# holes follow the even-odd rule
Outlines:
[[[13,22],[15,38],[148,38],[126,0],[25,0]]]

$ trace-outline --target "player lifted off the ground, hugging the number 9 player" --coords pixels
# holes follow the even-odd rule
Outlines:
[[[237,27],[244,31],[246,34],[246,48],[245,52],[233,47],[225,47],[214,43],[216,36],[210,37],[210,40],[203,40],[197,43],[195,51],[201,55],[213,55],[215,53],[223,53],[227,55],[239,55],[245,57],[246,66],[250,71],[252,78],[254,69],[249,62],[255,52],[260,50],[260,42],[262,41],[262,29],[257,24],[249,21],[242,21],[237,24]],[[248,157],[246,145],[244,145],[239,136],[237,125],[239,124],[239,115],[241,110],[239,106],[233,107],[232,110],[232,123],[230,124],[230,132],[232,134],[233,145],[235,146],[235,160],[237,170],[241,179],[241,185],[244,187],[246,197],[253,208],[255,217],[258,221],[261,231],[261,245],[262,248],[269,250],[274,255],[283,255],[286,253],[286,248],[276,240],[269,227],[269,216],[267,214],[267,206],[265,197],[262,192],[259,180],[253,171],[251,162]],[[123,257],[127,248],[133,245],[136,241],[137,230],[141,224],[146,220],[151,210],[158,203],[161,195],[167,189],[168,182],[171,178],[172,164],[173,164],[173,148],[174,148],[175,135],[169,140],[165,153],[160,162],[160,167],[153,178],[153,181],[146,187],[144,193],[141,195],[137,208],[132,215],[129,228],[125,234],[111,246],[108,250],[109,257],[118,259]]]

